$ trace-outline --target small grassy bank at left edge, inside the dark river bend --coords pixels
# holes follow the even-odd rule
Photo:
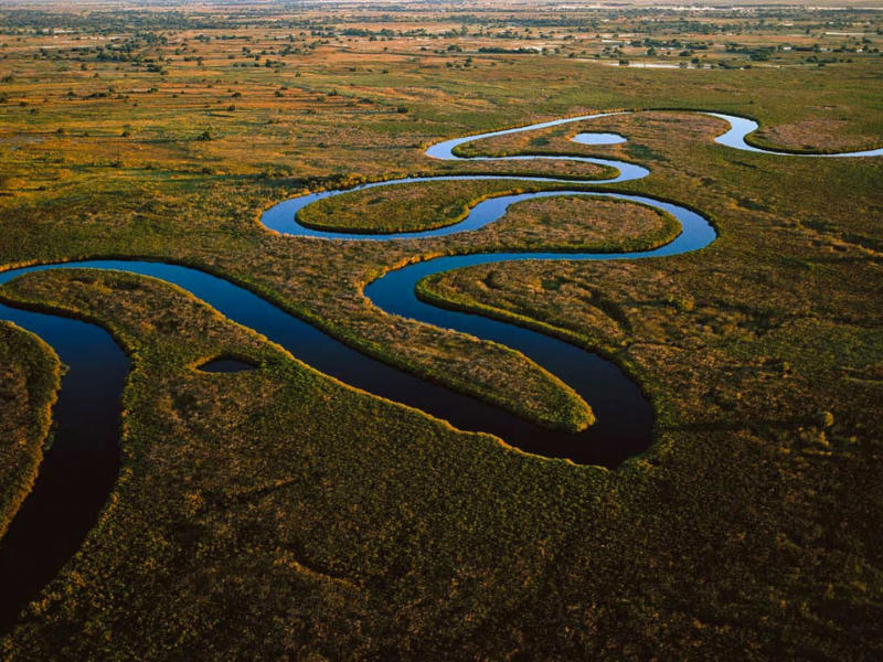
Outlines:
[[[0,322],[0,537],[36,477],[60,367],[39,338]]]

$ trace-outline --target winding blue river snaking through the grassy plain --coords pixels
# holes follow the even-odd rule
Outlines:
[[[454,150],[465,142],[585,121],[607,115],[617,114],[571,117],[457,138],[434,145],[426,150],[426,153],[435,159],[457,159]],[[752,120],[721,114],[709,115],[730,122],[731,129],[716,138],[722,145],[776,156],[794,156],[747,145],[745,136],[757,129],[757,124]],[[606,145],[624,140],[619,136],[609,134],[599,135],[599,138],[593,136],[579,134],[574,140],[587,145]],[[883,149],[819,156],[881,154]],[[649,171],[640,166],[589,157],[518,156],[470,160],[536,159],[583,161],[617,169],[618,174],[615,178],[595,182],[597,184],[614,184],[649,174]],[[415,181],[458,179],[512,179],[549,183],[567,181],[554,178],[497,175],[409,178],[365,184],[357,190],[394,186]],[[617,197],[672,214],[681,223],[681,234],[671,243],[653,250],[620,254],[490,253],[438,257],[389,271],[365,288],[366,296],[386,312],[456,329],[521,351],[562,378],[589,403],[597,423],[586,433],[577,435],[533,425],[476,398],[428,383],[361,354],[232,282],[182,266],[120,260],[42,265],[4,271],[0,274],[0,285],[25,273],[70,267],[118,269],[152,276],[182,287],[230,319],[263,333],[287,348],[299,360],[326,374],[444,418],[460,429],[498,435],[508,444],[535,455],[567,458],[576,463],[605,467],[616,467],[623,460],[649,447],[652,438],[650,406],[638,386],[616,365],[596,354],[534,331],[429,306],[417,299],[414,288],[423,277],[471,265],[525,259],[641,259],[698,250],[715,238],[714,229],[705,218],[677,204],[640,195],[556,190],[490,199],[477,204],[460,223],[427,232],[358,235],[315,231],[297,223],[295,216],[298,210],[317,200],[347,192],[349,191],[330,191],[285,201],[267,210],[262,221],[268,228],[288,235],[323,237],[329,241],[389,242],[475,231],[499,220],[509,205],[515,202],[554,195]],[[7,535],[0,541],[0,633],[2,633],[14,624],[28,601],[35,598],[64,563],[76,553],[113,489],[120,465],[119,397],[129,366],[127,357],[109,334],[95,325],[3,305],[0,305],[0,319],[10,320],[43,338],[70,366],[53,413],[54,442],[45,452],[33,490],[17,513]],[[216,378],[225,377],[222,374]]]

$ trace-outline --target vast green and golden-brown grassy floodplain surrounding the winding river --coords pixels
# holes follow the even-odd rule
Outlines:
[[[0,266],[185,264],[361,352],[547,427],[592,403],[524,354],[394,317],[364,288],[442,255],[638,250],[672,218],[578,196],[481,229],[340,242],[268,232],[306,192],[415,174],[568,178],[440,161],[456,136],[557,117],[465,157],[577,154],[651,174],[719,233],[691,254],[526,261],[424,300],[611,359],[656,415],[608,471],[526,455],[331,380],[189,293],[126,274],[21,277],[4,302],[107,328],[131,357],[123,470],[3,660],[873,660],[883,655],[883,12],[480,4],[0,11]],[[626,65],[628,62],[628,65]],[[638,66],[640,64],[655,66]],[[664,65],[659,67],[659,65]],[[584,146],[582,131],[628,141]],[[563,186],[556,184],[555,186]],[[550,184],[434,182],[299,216],[385,233]],[[256,369],[195,370],[235,355]],[[0,535],[49,435],[60,366],[0,323]],[[13,485],[11,491],[7,485]],[[2,538],[0,538],[2,545]]]

